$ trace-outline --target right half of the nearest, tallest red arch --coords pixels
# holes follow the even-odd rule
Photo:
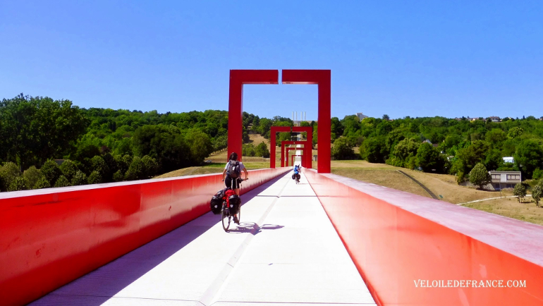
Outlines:
[[[319,115],[317,118],[317,170],[330,173],[331,169],[331,72],[329,70],[286,70],[281,72],[283,84],[318,85]]]

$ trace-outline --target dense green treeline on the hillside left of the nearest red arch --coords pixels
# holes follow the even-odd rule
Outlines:
[[[260,120],[243,116],[245,128]],[[227,131],[227,111],[80,109],[20,94],[0,102],[0,190],[150,178],[202,164],[227,147]],[[269,157],[262,146],[253,151]]]

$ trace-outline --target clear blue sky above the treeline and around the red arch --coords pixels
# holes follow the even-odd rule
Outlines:
[[[543,116],[543,1],[0,1],[0,98],[228,109],[230,69],[331,69],[332,115]],[[245,86],[307,111],[315,85]]]

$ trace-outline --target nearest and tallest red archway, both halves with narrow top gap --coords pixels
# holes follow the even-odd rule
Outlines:
[[[313,84],[318,86],[317,171],[330,173],[331,153],[331,72],[329,70],[282,71],[283,84]],[[231,70],[228,97],[228,152],[241,152],[243,136],[243,85],[278,84],[276,70]],[[241,154],[239,159],[242,160]]]

